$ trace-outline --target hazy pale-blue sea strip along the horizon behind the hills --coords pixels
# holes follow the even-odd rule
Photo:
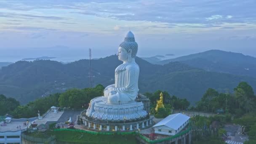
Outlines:
[[[152,52],[152,51],[138,51],[138,57],[150,57],[150,56],[156,56],[156,55],[163,55],[165,54],[174,54],[174,56],[166,56],[166,59],[173,59],[179,56],[186,56],[189,54],[194,54],[194,53],[200,53],[204,52],[203,50],[200,51],[195,51],[197,49],[192,49],[188,51],[181,51],[181,50],[176,50],[176,51],[157,51],[157,52]],[[208,49],[212,50],[212,49]],[[206,50],[206,51],[208,51]],[[214,49],[217,50],[217,49]],[[220,49],[219,49],[220,50]],[[238,51],[231,51],[235,53],[241,53],[239,50]],[[154,53],[154,54],[152,54]],[[107,56],[111,56],[115,54],[115,51],[104,51],[102,49],[93,49],[92,48],[92,59],[97,59],[97,58],[104,58]],[[253,56],[256,57],[256,55],[253,53],[242,53],[247,56]],[[25,58],[38,58],[42,56],[49,56],[49,57],[56,57],[56,59],[51,59],[53,61],[62,61],[62,62],[72,62],[72,61],[77,61],[80,59],[89,59],[88,56],[88,49],[86,48],[22,48],[22,49],[2,49],[0,53],[0,62],[16,62],[20,61]]]

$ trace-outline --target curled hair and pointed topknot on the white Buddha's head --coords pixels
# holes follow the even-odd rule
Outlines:
[[[129,51],[132,50],[131,56],[133,58],[135,58],[137,52],[138,52],[138,44],[135,41],[134,35],[131,31],[129,31],[126,36],[125,36],[125,40],[120,43],[119,45],[120,47],[122,47],[123,49],[125,49],[125,51]]]

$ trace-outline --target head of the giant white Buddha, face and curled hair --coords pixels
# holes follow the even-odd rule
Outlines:
[[[129,31],[125,36],[125,40],[119,45],[117,52],[118,59],[120,61],[131,62],[136,57],[137,52],[138,44],[135,42],[133,33]]]

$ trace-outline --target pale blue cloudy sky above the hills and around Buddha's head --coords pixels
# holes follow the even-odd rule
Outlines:
[[[256,57],[256,0],[0,0],[0,61],[117,52],[131,29],[138,56],[211,49]]]

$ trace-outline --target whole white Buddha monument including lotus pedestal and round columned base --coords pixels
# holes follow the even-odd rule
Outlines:
[[[138,93],[137,51],[138,44],[129,31],[118,48],[117,56],[123,64],[115,69],[115,83],[104,89],[104,96],[92,99],[88,109],[81,114],[88,128],[93,125],[93,129],[99,130],[133,131],[152,125],[153,117],[149,117],[150,101]]]

